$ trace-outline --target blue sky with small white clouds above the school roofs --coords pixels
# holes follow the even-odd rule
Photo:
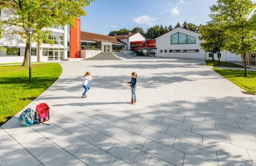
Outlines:
[[[216,0],[96,0],[85,8],[81,30],[109,34],[111,30],[141,27],[146,31],[154,25],[173,25],[184,21],[196,25],[210,20],[209,7]]]

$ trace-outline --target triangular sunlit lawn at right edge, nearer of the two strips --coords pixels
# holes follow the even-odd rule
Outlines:
[[[213,70],[235,85],[241,87],[243,90],[256,94],[256,71],[248,71],[248,76],[244,76],[244,70],[218,68]]]

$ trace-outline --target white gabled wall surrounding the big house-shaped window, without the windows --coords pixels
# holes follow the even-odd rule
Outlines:
[[[183,33],[196,38],[196,44],[171,44],[171,35],[175,33]],[[194,58],[205,59],[205,51],[201,49],[198,37],[200,34],[191,32],[183,28],[176,28],[170,32],[156,38],[156,56],[171,57],[171,58]],[[160,53],[163,50],[163,53]],[[167,50],[167,53],[164,53]],[[199,50],[199,53],[169,53],[169,50]]]

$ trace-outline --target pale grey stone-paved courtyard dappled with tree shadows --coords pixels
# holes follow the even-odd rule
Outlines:
[[[204,60],[62,61],[48,125],[0,128],[0,165],[256,165],[256,97]],[[91,90],[81,98],[82,76]],[[136,71],[137,104],[125,81]]]

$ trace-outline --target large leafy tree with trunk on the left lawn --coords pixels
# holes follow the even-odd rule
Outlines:
[[[50,30],[44,28],[66,24],[75,27],[75,18],[86,15],[83,8],[90,5],[92,1],[95,0],[0,0],[0,9],[7,14],[6,17],[1,17],[0,26],[1,29],[10,27],[11,30],[7,33],[20,35],[22,39],[26,40],[23,65],[27,66],[29,62],[29,34],[26,28],[34,29],[32,41],[36,42],[37,45],[40,45],[43,41],[53,44],[54,41],[48,38],[48,34],[51,36]]]

